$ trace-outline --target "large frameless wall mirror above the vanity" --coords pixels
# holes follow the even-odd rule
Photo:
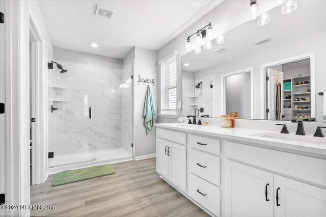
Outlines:
[[[213,40],[211,49],[182,56],[183,116],[198,108],[206,117],[232,111],[245,119],[323,121],[326,1],[268,13],[268,24],[248,21],[226,33],[224,43]]]

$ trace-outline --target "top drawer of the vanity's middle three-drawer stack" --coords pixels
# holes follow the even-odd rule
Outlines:
[[[190,147],[207,151],[213,154],[221,154],[221,141],[210,139],[206,137],[199,137],[197,135],[188,134],[188,145]]]

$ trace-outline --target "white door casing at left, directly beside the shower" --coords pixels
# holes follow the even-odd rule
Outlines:
[[[35,104],[32,114],[35,114],[35,141],[32,143],[32,184],[40,184],[46,181],[48,176],[47,167],[47,69],[46,69],[46,43],[35,22],[31,10],[29,10],[29,38],[33,39],[31,61],[32,87],[35,88]],[[30,84],[30,83],[29,83]],[[33,91],[34,92],[34,91]],[[33,103],[33,102],[32,102]],[[33,124],[33,123],[32,123]],[[33,179],[34,178],[34,179]]]

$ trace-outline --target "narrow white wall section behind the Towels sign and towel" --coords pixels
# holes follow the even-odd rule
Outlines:
[[[133,84],[134,84],[134,147],[135,157],[154,154],[155,149],[155,130],[146,134],[146,127],[144,125],[143,109],[144,101],[147,90],[147,84],[138,85],[138,75],[143,78],[154,79],[156,83],[156,51],[145,49],[141,47],[134,48],[135,53],[135,65],[133,73]],[[128,55],[127,55],[128,56]],[[132,59],[132,53],[131,53]],[[124,61],[126,62],[126,60]],[[151,85],[152,96],[156,106],[155,119],[157,117],[157,84]]]

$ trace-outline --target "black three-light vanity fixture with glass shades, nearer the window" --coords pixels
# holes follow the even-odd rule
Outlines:
[[[207,28],[207,31],[206,31],[206,28]],[[203,39],[206,38],[206,35],[207,35],[208,40],[212,39],[212,37],[213,37],[213,26],[211,25],[211,23],[208,23],[202,29],[197,30],[197,32],[195,32],[191,36],[188,36],[187,39],[184,42],[184,50],[185,51],[190,51],[192,49],[190,38],[192,36],[194,36],[194,35],[196,35],[195,36],[196,37],[195,38],[195,47],[196,47],[195,48],[195,53],[199,54],[199,53],[201,53],[201,47],[200,46],[203,43]],[[209,43],[206,45],[206,47],[209,47]]]

